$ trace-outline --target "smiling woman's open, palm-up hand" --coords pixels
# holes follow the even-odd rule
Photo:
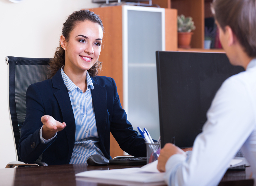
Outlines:
[[[44,124],[42,128],[42,137],[44,139],[52,138],[56,132],[63,130],[67,126],[65,122],[60,123],[50,115],[42,116],[41,122]]]

